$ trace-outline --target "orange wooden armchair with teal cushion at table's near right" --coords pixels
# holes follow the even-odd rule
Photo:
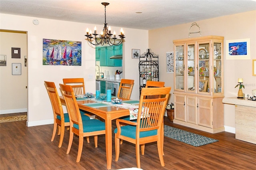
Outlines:
[[[117,128],[114,130],[116,161],[118,161],[120,153],[120,139],[135,144],[138,168],[140,168],[140,145],[157,142],[161,166],[164,166],[161,130],[170,90],[171,87],[142,88],[137,121],[116,120]],[[144,97],[151,95],[161,95],[161,97],[157,99],[147,99]],[[121,126],[120,123],[126,125]],[[144,151],[142,151],[142,155],[144,155]]]

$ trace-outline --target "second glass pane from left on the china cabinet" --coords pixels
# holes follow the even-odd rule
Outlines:
[[[187,46],[187,70],[188,70],[188,79],[187,79],[187,91],[195,91],[195,45],[191,44]]]

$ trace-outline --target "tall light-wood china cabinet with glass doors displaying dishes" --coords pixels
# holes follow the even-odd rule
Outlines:
[[[174,123],[210,133],[224,131],[223,40],[174,40]]]

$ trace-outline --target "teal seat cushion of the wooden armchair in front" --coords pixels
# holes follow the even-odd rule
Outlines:
[[[114,133],[117,133],[117,128],[114,130]],[[149,130],[145,132],[140,132],[140,138],[154,136],[157,134],[157,130]],[[129,138],[136,139],[136,126],[122,126],[121,127],[121,135]]]

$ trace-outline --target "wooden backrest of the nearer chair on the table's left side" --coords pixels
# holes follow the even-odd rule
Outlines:
[[[82,118],[74,95],[74,91],[71,85],[60,84],[60,89],[62,91],[65,103],[68,109],[68,116],[72,123],[77,125],[82,125]],[[80,123],[79,123],[80,122]],[[80,128],[80,127],[79,127]]]

